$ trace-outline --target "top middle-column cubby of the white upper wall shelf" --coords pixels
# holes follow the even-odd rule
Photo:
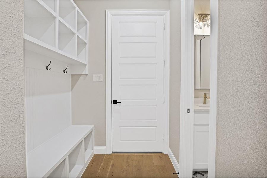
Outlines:
[[[59,16],[75,29],[76,8],[70,0],[59,1]]]

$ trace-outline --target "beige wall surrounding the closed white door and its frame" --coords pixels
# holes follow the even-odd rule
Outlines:
[[[72,75],[72,123],[95,125],[95,144],[106,145],[105,35],[106,9],[171,10],[170,147],[179,160],[180,110],[180,1],[177,0],[74,0],[89,20],[89,75]],[[171,6],[171,4],[173,6]],[[175,7],[177,6],[177,7]],[[172,12],[173,11],[173,12]],[[103,74],[103,82],[92,82]],[[93,101],[93,102],[91,102]]]

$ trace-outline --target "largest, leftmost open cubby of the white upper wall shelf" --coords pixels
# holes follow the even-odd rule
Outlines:
[[[56,17],[37,1],[24,3],[24,33],[55,47]]]

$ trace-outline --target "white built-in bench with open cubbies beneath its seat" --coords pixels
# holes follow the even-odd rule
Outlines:
[[[94,126],[71,125],[27,154],[27,177],[81,177],[93,149]]]

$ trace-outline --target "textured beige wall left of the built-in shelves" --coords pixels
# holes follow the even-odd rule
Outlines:
[[[0,1],[0,177],[26,177],[23,1]]]

